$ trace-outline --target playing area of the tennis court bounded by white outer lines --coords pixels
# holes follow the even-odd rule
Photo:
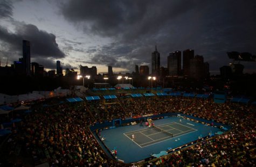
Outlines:
[[[171,122],[170,124],[124,133],[124,135],[135,142],[139,147],[143,148],[169,140],[172,137],[182,136],[195,131],[197,131],[197,129],[178,124],[177,122]],[[132,135],[135,136],[134,139],[132,139]]]

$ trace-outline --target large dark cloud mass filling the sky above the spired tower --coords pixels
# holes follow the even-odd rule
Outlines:
[[[110,37],[114,43],[97,48],[94,63],[118,64],[120,57],[149,63],[157,43],[161,65],[169,52],[194,49],[219,69],[231,62],[226,52],[256,54],[256,1],[68,1],[64,17],[85,33]],[[94,50],[92,50],[94,51]],[[106,55],[108,59],[103,57]],[[136,58],[136,59],[135,59]],[[220,61],[221,60],[221,61]],[[128,67],[130,64],[133,66]],[[125,65],[125,64],[123,64]]]

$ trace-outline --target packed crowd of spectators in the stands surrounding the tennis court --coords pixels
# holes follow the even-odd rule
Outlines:
[[[42,103],[43,104],[43,103]],[[181,112],[232,126],[229,132],[200,140],[161,159],[137,166],[255,165],[255,106],[184,97],[119,98],[114,101],[34,105],[12,140],[22,143],[34,162],[51,166],[130,166],[108,158],[89,125],[151,113]]]

